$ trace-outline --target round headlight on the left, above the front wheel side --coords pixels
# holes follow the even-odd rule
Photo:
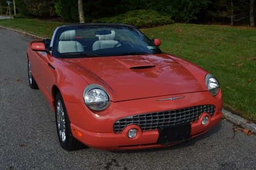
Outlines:
[[[90,109],[96,111],[104,110],[110,105],[110,95],[103,87],[96,84],[91,84],[84,89],[83,99]]]

